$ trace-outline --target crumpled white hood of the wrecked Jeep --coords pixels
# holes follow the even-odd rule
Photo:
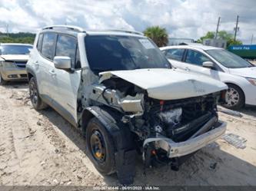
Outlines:
[[[198,97],[228,89],[221,81],[179,69],[137,69],[132,71],[101,72],[100,82],[113,76],[148,91],[148,97],[158,100],[178,100]]]

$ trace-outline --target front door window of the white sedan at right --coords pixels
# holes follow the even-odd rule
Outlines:
[[[201,54],[201,52],[188,50],[186,62],[189,64],[196,64],[201,66],[204,61],[211,61],[210,58]]]

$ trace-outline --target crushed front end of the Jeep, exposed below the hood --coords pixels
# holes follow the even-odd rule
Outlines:
[[[115,120],[131,130],[146,166],[170,163],[177,170],[182,160],[217,140],[226,130],[226,123],[219,121],[217,114],[224,91],[158,100],[119,77],[107,77],[91,88],[91,104],[107,105],[121,114]]]

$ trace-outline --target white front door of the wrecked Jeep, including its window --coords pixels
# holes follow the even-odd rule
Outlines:
[[[55,68],[53,99],[58,109],[71,123],[77,123],[77,95],[81,81],[81,64],[77,38],[58,34],[55,56],[71,58],[71,71]]]

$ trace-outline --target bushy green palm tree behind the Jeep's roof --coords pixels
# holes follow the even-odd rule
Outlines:
[[[148,27],[144,31],[144,35],[151,38],[158,47],[163,47],[168,44],[168,34],[165,28],[159,26]]]

